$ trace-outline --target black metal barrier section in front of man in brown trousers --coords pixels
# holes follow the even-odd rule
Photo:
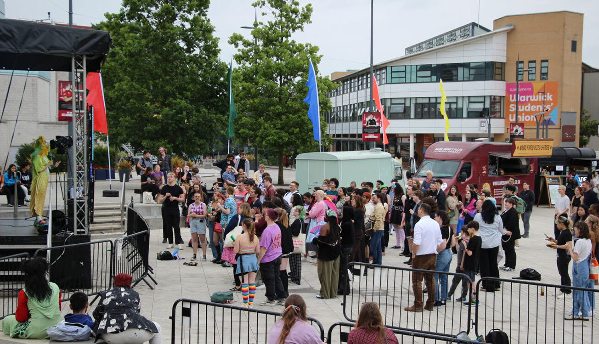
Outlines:
[[[404,309],[414,304],[412,277],[415,273],[447,276],[447,288],[452,284],[454,277],[470,281],[468,276],[462,273],[431,272],[358,262],[347,264],[347,269],[351,278],[350,291],[343,296],[343,314],[347,320],[355,322],[358,319],[362,303],[376,302],[383,314],[383,322],[390,328],[448,336],[460,331],[470,331],[470,303],[463,305],[462,302],[447,302],[445,306],[435,307],[432,311],[425,309],[423,312],[409,312]],[[439,287],[437,283],[436,288]],[[422,280],[422,288],[425,289],[425,279]],[[452,298],[459,297],[459,294],[460,290],[456,290]],[[434,296],[431,297],[434,299]],[[426,303],[427,298],[428,294],[424,293],[423,302]]]

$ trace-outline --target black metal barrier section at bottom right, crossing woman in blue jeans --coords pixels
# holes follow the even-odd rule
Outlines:
[[[491,281],[499,283],[500,290],[481,290],[482,284]],[[560,298],[560,288],[571,293]],[[594,336],[593,329],[599,326],[594,316],[564,319],[573,312],[574,300],[588,302],[589,309],[596,312],[597,289],[485,277],[477,281],[476,290],[480,302],[475,310],[476,334],[484,336],[492,328],[501,328],[510,343],[593,343],[594,337],[599,337]]]

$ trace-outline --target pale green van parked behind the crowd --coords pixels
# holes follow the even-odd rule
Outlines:
[[[299,191],[305,193],[314,187],[322,187],[325,179],[337,178],[341,187],[349,187],[355,181],[360,187],[364,181],[377,180],[391,184],[397,179],[406,190],[404,171],[397,159],[380,148],[364,151],[310,152],[295,158],[295,180]]]

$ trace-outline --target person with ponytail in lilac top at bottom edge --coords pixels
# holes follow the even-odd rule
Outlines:
[[[268,333],[268,344],[321,344],[320,334],[310,322],[306,313],[304,298],[291,294],[285,300],[281,318],[274,323]]]

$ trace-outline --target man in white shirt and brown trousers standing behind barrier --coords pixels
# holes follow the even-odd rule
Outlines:
[[[437,265],[437,252],[440,246],[446,245],[441,238],[441,227],[429,214],[431,206],[422,203],[418,208],[420,220],[414,226],[414,242],[412,251],[412,267],[421,270],[435,270]],[[422,278],[426,282],[428,297],[426,305],[422,302]],[[414,305],[406,307],[409,312],[422,312],[422,309],[432,310],[435,299],[435,280],[433,273],[414,272],[412,275],[412,289],[414,291]]]

